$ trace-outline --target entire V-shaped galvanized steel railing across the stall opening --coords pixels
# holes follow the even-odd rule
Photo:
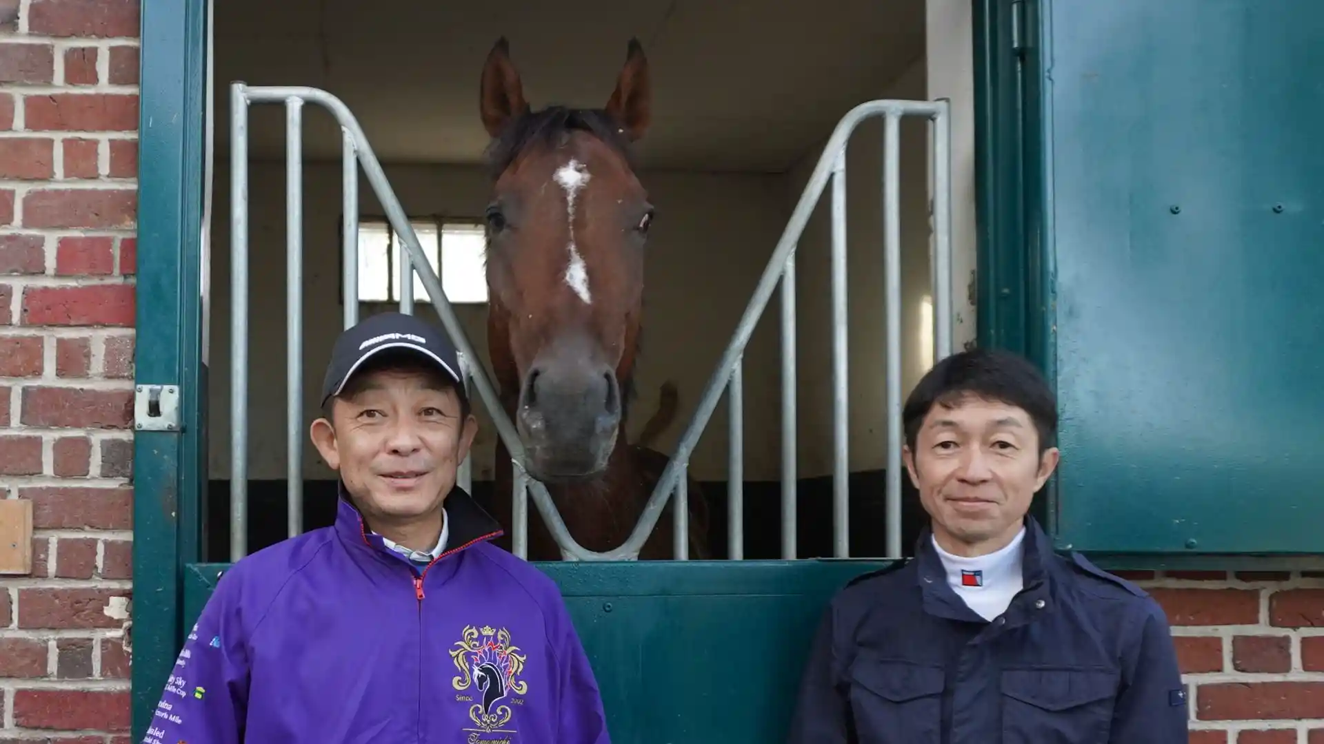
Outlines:
[[[730,475],[728,510],[731,557],[743,557],[744,499],[744,395],[741,357],[755,326],[763,315],[773,287],[781,282],[781,552],[785,559],[796,557],[796,244],[818,203],[833,180],[831,196],[831,323],[833,323],[833,552],[849,556],[847,523],[847,401],[846,401],[846,143],[861,122],[884,116],[883,147],[883,256],[887,334],[887,557],[900,557],[900,195],[899,195],[899,142],[900,118],[922,116],[933,122],[933,252],[932,283],[935,304],[935,359],[951,353],[951,160],[949,160],[949,107],[947,101],[873,101],[850,110],[841,119],[824,147],[809,183],[792,212],[777,246],[764,269],[763,277],[749,299],[731,343],[727,346],[716,371],[704,388],[698,410],[681,437],[675,454],[657,483],[651,498],[634,531],[626,541],[606,552],[593,552],[580,545],[565,528],[565,523],[552,503],[543,483],[527,475],[523,467],[523,447],[515,428],[500,406],[486,369],[474,363],[467,336],[441,289],[436,271],[426,261],[418,236],[404,213],[391,183],[350,109],[330,93],[301,86],[248,86],[230,85],[230,253],[232,253],[232,335],[230,335],[230,560],[248,552],[248,106],[250,103],[283,102],[286,107],[286,287],[287,287],[287,502],[289,535],[298,535],[302,524],[302,111],[306,102],[324,107],[340,124],[343,135],[343,233],[344,233],[344,327],[357,322],[357,209],[359,173],[363,167],[369,185],[387,210],[392,229],[404,241],[401,254],[400,308],[413,312],[412,274],[418,273],[424,289],[432,299],[442,326],[461,353],[466,387],[473,383],[479,398],[495,422],[498,436],[511,453],[514,463],[514,522],[512,539],[516,555],[527,556],[530,492],[539,514],[561,548],[565,560],[633,560],[638,557],[645,540],[653,532],[667,499],[675,492],[675,543],[678,560],[688,557],[688,510],[686,473],[690,455],[703,434],[722,393],[728,396],[730,412]],[[469,488],[471,463],[466,458],[461,466],[459,485]]]

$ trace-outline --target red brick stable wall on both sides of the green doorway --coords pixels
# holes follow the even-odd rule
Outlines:
[[[0,744],[123,744],[131,579],[138,4],[0,0]],[[1324,575],[1143,575],[1193,744],[1324,744]]]

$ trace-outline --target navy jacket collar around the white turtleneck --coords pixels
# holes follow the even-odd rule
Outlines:
[[[1039,523],[1030,515],[1025,516],[1025,539],[1021,543],[1021,577],[1023,588],[1012,600],[1000,624],[1002,628],[1016,628],[1030,622],[1053,608],[1053,565],[1055,553],[1053,540]],[[974,613],[947,584],[947,569],[943,559],[933,548],[932,527],[924,527],[915,544],[915,565],[918,582],[923,596],[924,612],[951,620],[986,622]]]

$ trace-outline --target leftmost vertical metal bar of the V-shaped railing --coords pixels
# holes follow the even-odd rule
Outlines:
[[[248,98],[230,83],[230,563],[248,553]]]

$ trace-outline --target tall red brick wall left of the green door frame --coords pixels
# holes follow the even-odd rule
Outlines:
[[[0,0],[0,743],[127,741],[136,0]]]

